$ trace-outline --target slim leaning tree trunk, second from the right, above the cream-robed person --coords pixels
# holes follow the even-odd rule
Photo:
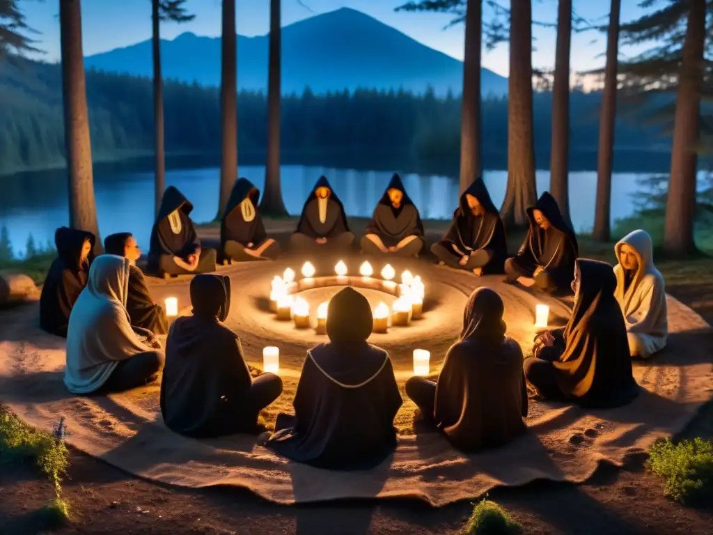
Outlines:
[[[611,238],[612,161],[614,127],[617,121],[617,66],[619,63],[619,16],[621,0],[612,0],[607,33],[607,65],[604,68],[604,93],[599,116],[599,153],[597,155],[597,203],[594,210],[595,240]]]

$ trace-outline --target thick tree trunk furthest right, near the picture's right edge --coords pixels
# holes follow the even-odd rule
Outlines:
[[[664,225],[664,249],[666,253],[678,257],[696,251],[693,220],[706,39],[706,0],[688,0],[688,3],[690,11],[676,95],[671,176]]]

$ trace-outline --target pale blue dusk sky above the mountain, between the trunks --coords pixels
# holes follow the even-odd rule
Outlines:
[[[404,34],[433,49],[458,59],[463,58],[463,25],[443,29],[451,16],[432,13],[395,12],[394,7],[403,2],[394,0],[303,0],[305,9],[297,0],[282,0],[282,25],[292,24],[314,14],[333,11],[341,7],[358,9],[375,19],[393,26]],[[609,11],[608,0],[574,0],[575,11],[581,16],[603,23]],[[634,19],[642,11],[637,0],[622,2],[622,21]],[[39,46],[47,52],[48,61],[59,57],[58,1],[23,0],[20,2],[27,21],[41,31]],[[220,35],[220,0],[188,0],[188,9],[196,15],[188,24],[163,24],[164,39],[173,39],[184,31],[202,36]],[[556,0],[535,0],[533,13],[536,20],[554,22],[557,19]],[[150,0],[83,0],[84,54],[108,51],[150,39]],[[488,12],[486,11],[486,16]],[[269,29],[269,0],[237,0],[237,32],[245,36],[267,34]],[[535,26],[533,66],[552,68],[555,58],[555,31]],[[594,41],[594,42],[593,42]],[[605,51],[605,36],[595,32],[576,34],[572,40],[573,71],[583,71],[600,66],[600,56]],[[632,49],[622,49],[622,56],[633,54]],[[483,51],[483,66],[496,73],[508,74],[508,48],[503,44],[494,51]]]

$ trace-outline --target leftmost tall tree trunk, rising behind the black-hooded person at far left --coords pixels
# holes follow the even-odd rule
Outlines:
[[[101,254],[101,239],[96,220],[96,200],[94,199],[89,113],[84,81],[80,0],[60,0],[59,24],[62,51],[64,143],[69,183],[69,226],[93,233],[96,236],[95,253]]]

